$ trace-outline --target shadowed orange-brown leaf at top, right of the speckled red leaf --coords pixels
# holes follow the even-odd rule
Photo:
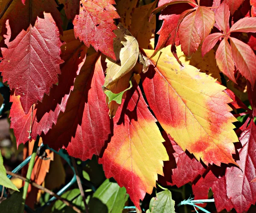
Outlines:
[[[156,18],[149,16],[156,7],[157,0],[154,2],[137,7],[131,17],[131,34],[137,39],[139,46],[145,49],[154,49],[154,37],[156,29]],[[143,23],[143,24],[141,24]]]

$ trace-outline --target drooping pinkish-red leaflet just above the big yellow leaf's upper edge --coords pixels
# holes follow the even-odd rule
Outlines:
[[[184,54],[191,58],[192,54],[197,51],[198,46],[201,43],[198,32],[195,28],[196,12],[190,13],[180,23],[179,38],[181,43],[181,50]]]

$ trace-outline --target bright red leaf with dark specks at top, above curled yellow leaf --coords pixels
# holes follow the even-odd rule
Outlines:
[[[80,13],[73,20],[76,38],[79,37],[84,44],[90,44],[96,51],[101,51],[108,57],[116,60],[113,50],[113,38],[117,29],[113,23],[119,18],[114,0],[81,0]]]

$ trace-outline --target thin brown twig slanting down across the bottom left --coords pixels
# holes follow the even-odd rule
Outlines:
[[[26,178],[24,178],[24,177],[22,177],[22,176],[20,176],[20,175],[17,175],[17,174],[15,174],[15,173],[10,172],[10,171],[6,171],[6,173],[7,173],[8,175],[11,175],[11,176],[15,177],[15,178],[19,178],[19,179],[21,179],[21,180],[23,180],[23,181],[26,181]],[[34,186],[34,187],[40,189],[40,190],[43,190],[43,191],[46,192],[46,193],[49,193],[51,196],[54,196],[54,197],[57,198],[58,200],[61,200],[64,204],[66,204],[68,207],[71,207],[74,211],[76,211],[76,212],[78,212],[78,213],[82,213],[82,211],[81,211],[79,208],[77,208],[76,206],[74,206],[72,203],[70,203],[70,201],[68,201],[68,200],[66,200],[66,199],[64,199],[64,198],[62,198],[62,197],[56,195],[56,194],[55,194],[54,192],[52,192],[51,190],[49,190],[49,189],[47,189],[47,188],[45,188],[45,187],[42,187],[41,185],[39,185],[39,184],[37,184],[37,183],[35,183],[35,182],[32,182],[32,181],[30,181],[30,184],[31,184],[32,186]]]

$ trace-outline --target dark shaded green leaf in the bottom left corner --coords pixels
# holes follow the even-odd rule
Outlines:
[[[1,157],[2,158],[2,157]],[[19,192],[15,192],[11,197],[4,200],[0,204],[0,212],[4,213],[20,213],[22,207],[23,188]]]

